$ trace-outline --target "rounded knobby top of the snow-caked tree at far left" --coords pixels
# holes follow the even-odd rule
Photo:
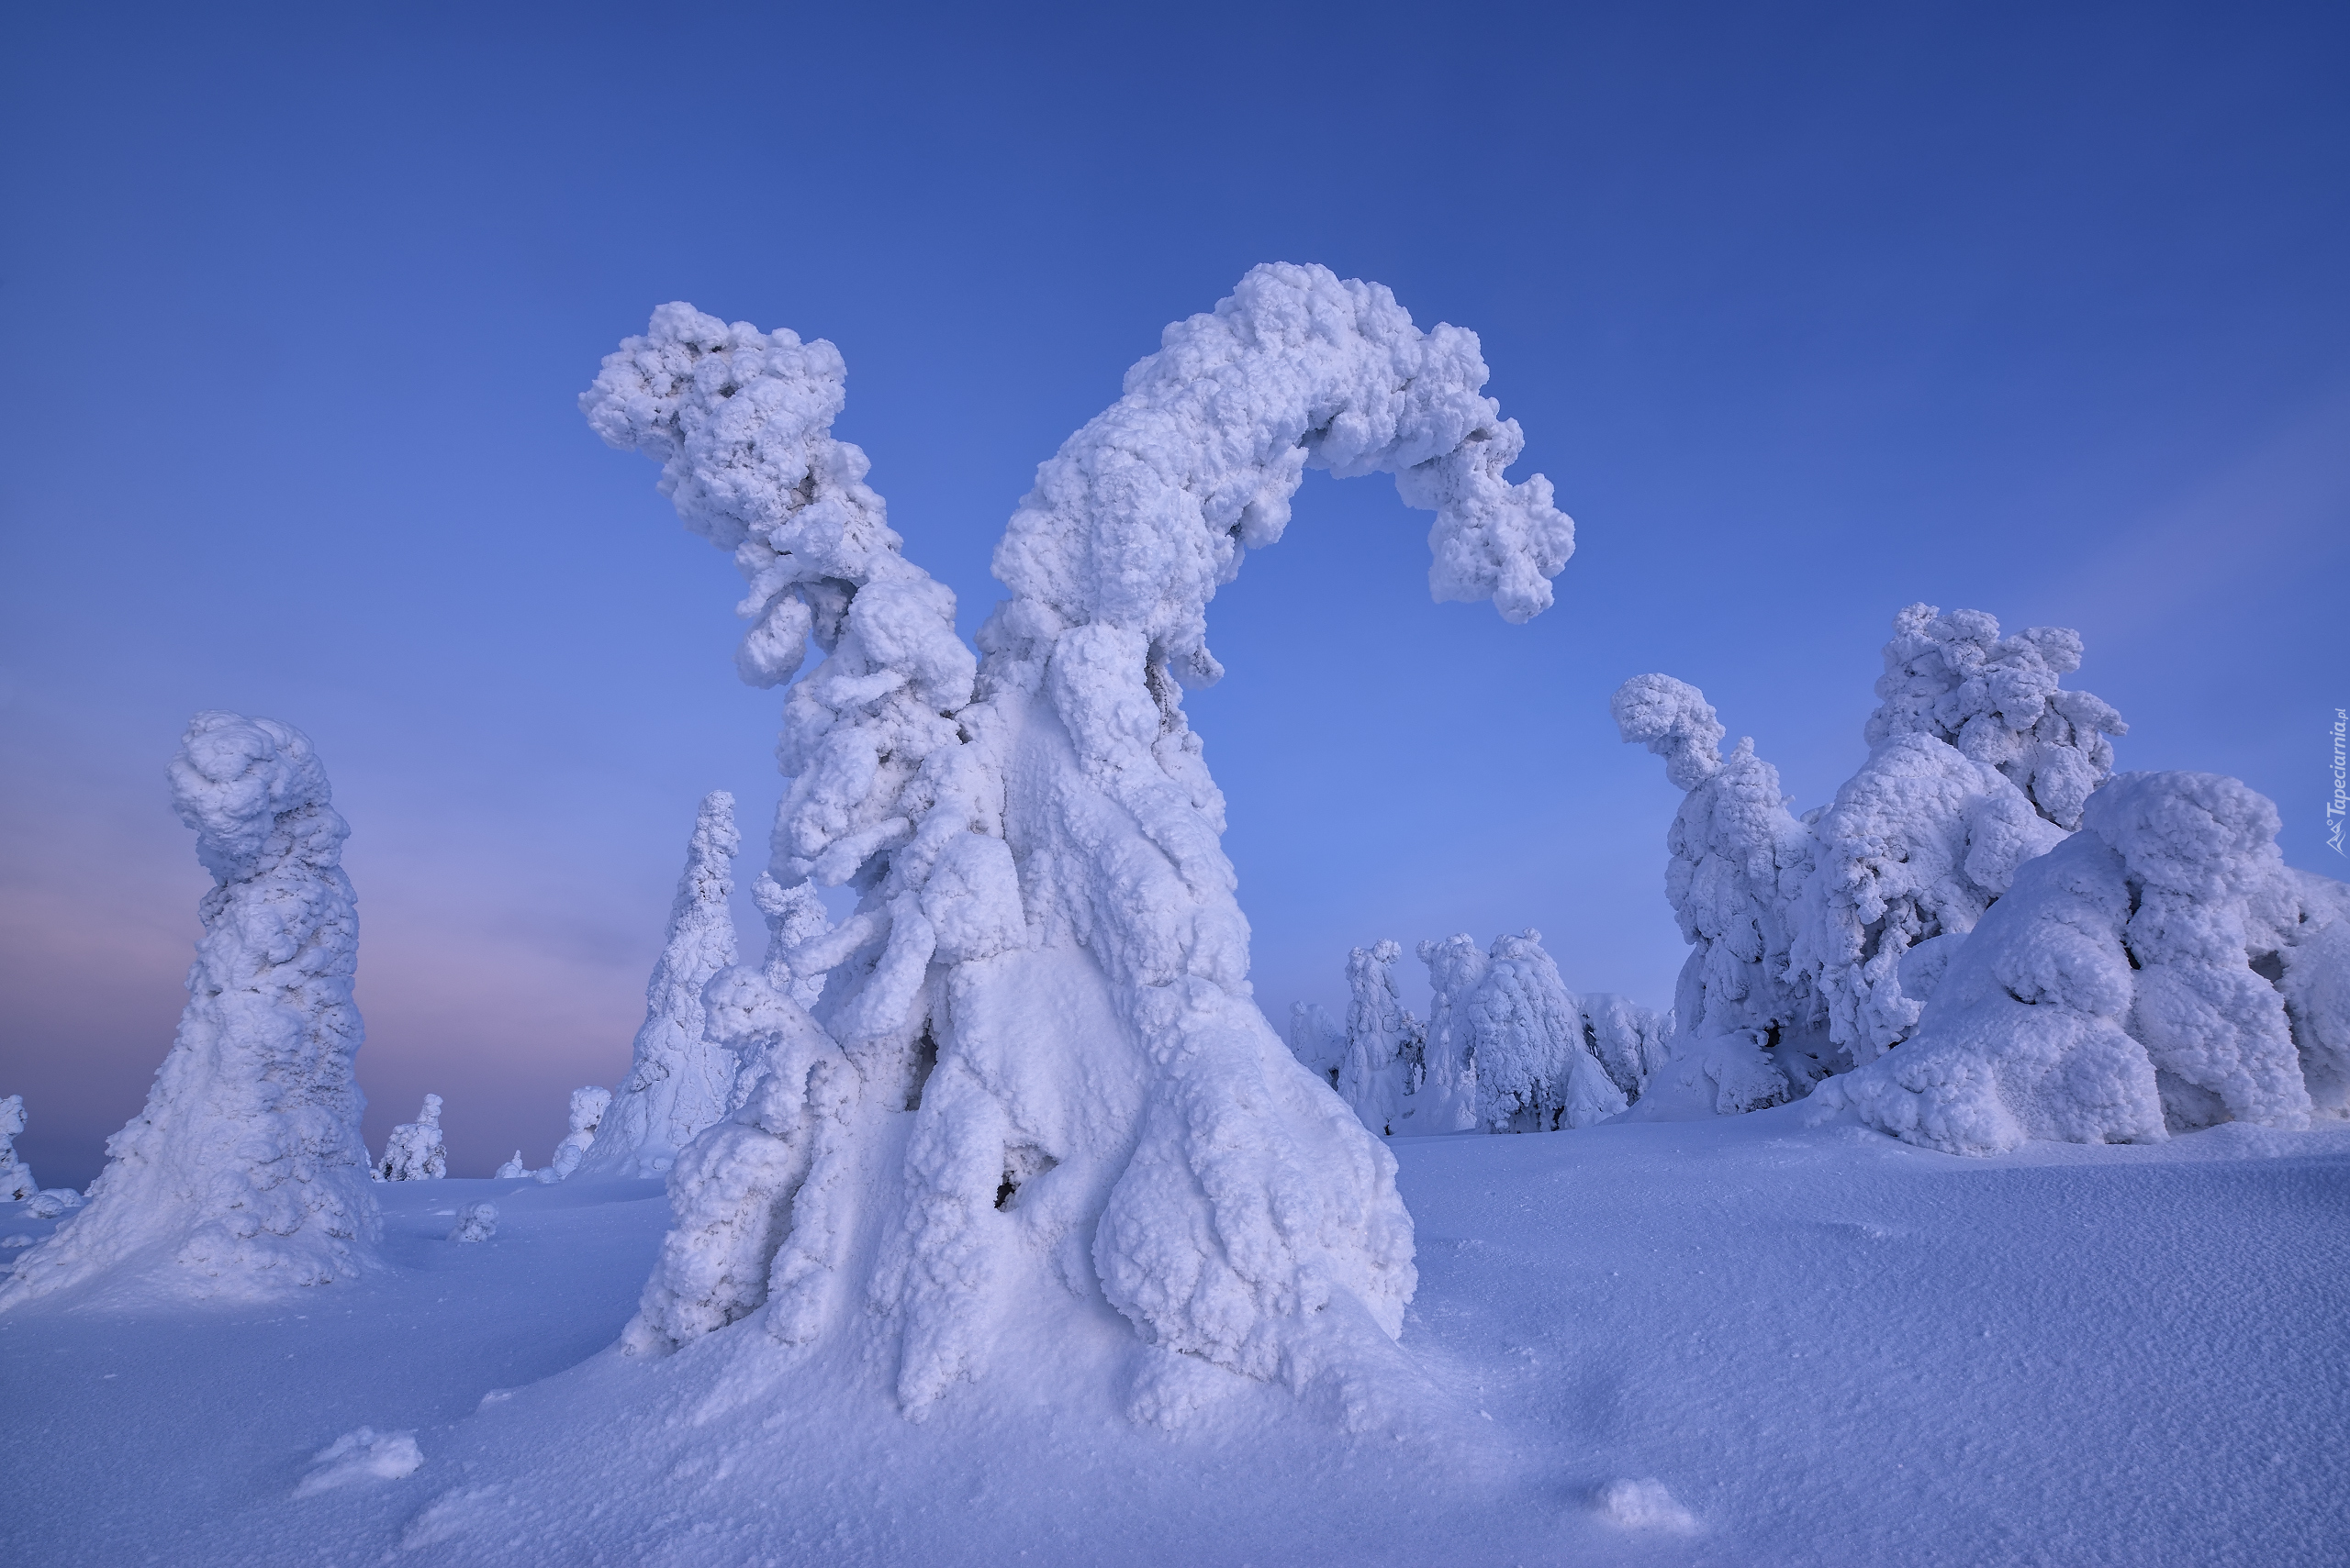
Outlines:
[[[172,758],[172,810],[219,883],[298,859],[331,864],[350,836],[310,737],[275,718],[197,714]]]

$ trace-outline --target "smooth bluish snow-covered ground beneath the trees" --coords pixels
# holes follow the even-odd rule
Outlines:
[[[0,1540],[56,1568],[2350,1561],[2350,1129],[1960,1160],[1807,1115],[1394,1141],[1419,1291],[1354,1432],[1222,1371],[1142,1427],[1133,1329],[1074,1296],[996,1322],[921,1422],[855,1336],[620,1357],[658,1183],[383,1183],[364,1279],[0,1317]],[[446,1239],[482,1199],[496,1235]],[[0,1204],[0,1235],[49,1228]]]

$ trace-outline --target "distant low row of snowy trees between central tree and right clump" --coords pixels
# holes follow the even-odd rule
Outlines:
[[[1542,932],[1422,941],[1431,1009],[1422,1023],[1396,988],[1403,948],[1347,955],[1347,1021],[1316,1002],[1290,1012],[1290,1052],[1384,1136],[1560,1131],[1640,1099],[1664,1063],[1671,1014],[1622,995],[1577,995]]]

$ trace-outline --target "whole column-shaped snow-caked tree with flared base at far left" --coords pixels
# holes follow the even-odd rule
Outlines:
[[[348,1279],[374,1258],[352,1080],[360,920],[327,770],[291,725],[197,714],[169,777],[214,878],[188,1007],[89,1204],[16,1261],[0,1307],[113,1270],[249,1293]]]

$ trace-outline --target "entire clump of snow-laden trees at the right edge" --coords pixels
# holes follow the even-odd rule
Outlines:
[[[2235,779],[2113,775],[2122,718],[2061,685],[2080,636],[1911,606],[1861,770],[1788,812],[1704,695],[1636,676],[1626,742],[1687,791],[1666,897],[1690,941],[1654,1113],[1814,1096],[1981,1153],[2343,1115],[2350,890],[2289,871]],[[1899,1047],[1899,1049],[1896,1049]]]

